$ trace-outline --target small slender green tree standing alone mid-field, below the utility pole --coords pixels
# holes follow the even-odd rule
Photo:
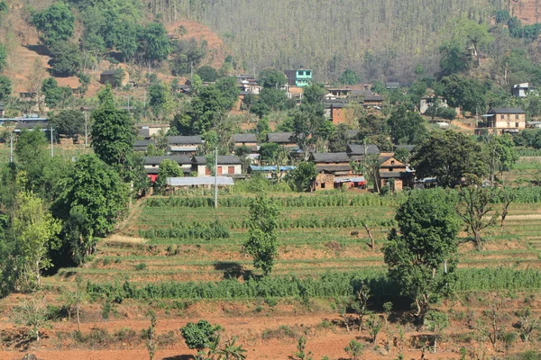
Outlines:
[[[253,266],[261,268],[265,276],[271,274],[274,258],[278,256],[279,216],[278,204],[262,193],[250,205],[250,228],[244,249],[252,255]]]

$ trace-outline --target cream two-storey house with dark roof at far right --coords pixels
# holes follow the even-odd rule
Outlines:
[[[526,112],[519,108],[492,108],[482,117],[484,121],[479,124],[479,129],[475,130],[476,133],[480,133],[481,130],[499,134],[517,133],[519,130],[526,129]]]

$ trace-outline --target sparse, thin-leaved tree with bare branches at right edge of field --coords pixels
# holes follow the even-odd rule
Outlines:
[[[475,248],[481,250],[481,231],[496,224],[498,213],[489,216],[491,202],[497,197],[496,190],[481,186],[466,186],[458,189],[459,202],[456,212],[473,235]]]

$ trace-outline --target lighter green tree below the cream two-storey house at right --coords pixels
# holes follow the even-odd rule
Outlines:
[[[487,168],[494,186],[494,176],[509,171],[518,161],[518,153],[509,134],[485,137],[483,150],[487,158]]]

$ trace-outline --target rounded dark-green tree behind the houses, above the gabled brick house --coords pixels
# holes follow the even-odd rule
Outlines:
[[[425,120],[406,106],[399,106],[388,120],[390,137],[396,144],[418,144],[426,138]]]

